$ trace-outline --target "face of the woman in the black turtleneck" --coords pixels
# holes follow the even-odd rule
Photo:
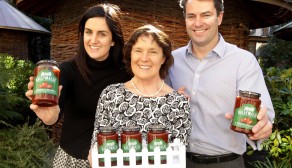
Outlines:
[[[90,18],[84,28],[84,48],[87,54],[97,61],[105,60],[114,45],[112,33],[106,24],[105,18]]]

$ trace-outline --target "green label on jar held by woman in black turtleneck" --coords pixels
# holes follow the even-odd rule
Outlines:
[[[41,70],[34,78],[33,93],[37,94],[50,94],[58,96],[59,92],[58,78],[51,70]]]

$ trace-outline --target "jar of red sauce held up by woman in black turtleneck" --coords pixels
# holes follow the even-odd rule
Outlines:
[[[34,69],[32,103],[42,107],[58,104],[60,69],[53,60],[41,60]]]

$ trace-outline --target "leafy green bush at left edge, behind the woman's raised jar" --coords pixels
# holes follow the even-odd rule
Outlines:
[[[0,126],[21,121],[30,101],[25,97],[34,64],[0,53]],[[31,112],[30,112],[31,113]]]

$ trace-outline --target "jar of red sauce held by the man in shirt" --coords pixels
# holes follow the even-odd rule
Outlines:
[[[256,123],[260,110],[261,94],[251,91],[239,91],[234,106],[234,117],[230,128],[236,132],[253,134],[252,128]]]

